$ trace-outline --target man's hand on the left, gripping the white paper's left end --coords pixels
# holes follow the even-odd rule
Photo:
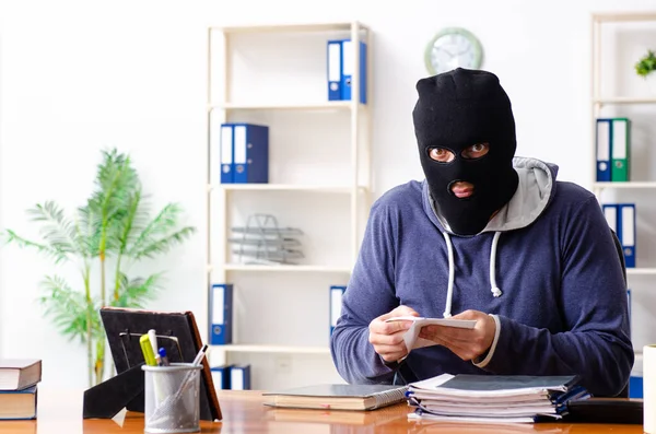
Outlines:
[[[385,362],[397,362],[408,355],[403,335],[412,321],[385,322],[387,318],[395,316],[419,316],[419,314],[408,306],[399,306],[370,322],[370,342]]]

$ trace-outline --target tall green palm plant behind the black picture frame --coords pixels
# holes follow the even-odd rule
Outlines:
[[[103,382],[106,365],[106,336],[98,309],[144,307],[162,288],[163,273],[134,277],[130,266],[167,251],[196,231],[179,227],[183,210],[177,203],[151,216],[128,155],[112,150],[102,156],[95,190],[72,216],[54,201],[37,203],[27,212],[40,225],[42,241],[26,239],[12,230],[3,234],[8,244],[34,248],[56,265],[74,265],[80,270],[80,280],[73,284],[57,274],[46,275],[38,301],[63,336],[86,345],[90,386]]]

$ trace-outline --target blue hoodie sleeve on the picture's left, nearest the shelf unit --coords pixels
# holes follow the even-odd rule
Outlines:
[[[348,383],[391,383],[396,363],[385,363],[368,342],[368,325],[399,305],[394,289],[393,230],[387,207],[372,207],[362,246],[330,337],[338,373]]]

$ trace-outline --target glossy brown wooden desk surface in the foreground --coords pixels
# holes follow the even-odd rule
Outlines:
[[[271,409],[258,391],[219,392],[222,422],[201,422],[202,433],[642,433],[642,425],[526,424],[478,425],[418,423],[408,421],[407,404],[371,412],[337,412]],[[122,413],[117,420],[83,420],[82,392],[43,389],[38,395],[38,419],[0,422],[0,434],[113,434],[143,433],[143,414]]]

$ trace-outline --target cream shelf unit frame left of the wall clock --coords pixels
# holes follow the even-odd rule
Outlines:
[[[274,102],[241,102],[232,97],[233,90],[233,71],[231,44],[234,38],[242,35],[265,35],[265,34],[326,34],[328,38],[350,38],[351,40],[364,40],[367,46],[366,56],[366,104],[360,103],[356,98],[351,101],[328,101],[328,91],[326,77],[318,78],[318,82],[324,84],[325,101],[288,101],[289,98],[278,99]],[[216,42],[216,39],[219,39]],[[215,48],[222,51],[215,59]],[[360,62],[355,61],[360,56],[359,44],[353,45],[353,80],[351,84],[352,95],[360,94]],[[304,279],[308,275],[331,275],[336,279],[348,280],[353,263],[360,248],[362,233],[366,222],[368,208],[371,207],[372,198],[372,174],[371,174],[371,136],[372,136],[372,119],[371,109],[373,105],[373,37],[372,32],[359,22],[343,23],[316,23],[316,24],[290,24],[290,25],[265,25],[265,26],[238,26],[238,27],[209,27],[208,30],[208,83],[207,83],[207,125],[208,125],[208,185],[207,185],[207,279],[206,288],[212,283],[231,282],[234,277],[247,275],[254,277],[267,273],[268,279],[278,279],[283,275],[296,275],[298,279]],[[324,50],[326,47],[324,48]],[[324,51],[324,58],[326,57]],[[216,67],[219,64],[219,67]],[[218,68],[221,71],[218,71]],[[221,80],[216,80],[215,74],[220,72]],[[220,86],[221,97],[216,98],[214,93]],[[234,101],[233,101],[234,99]],[[278,183],[277,179],[269,179],[272,184],[218,184],[216,166],[212,162],[212,149],[216,149],[216,140],[212,140],[212,127],[222,122],[232,121],[231,117],[236,117],[243,114],[271,114],[271,113],[316,113],[320,116],[348,116],[349,119],[349,154],[345,157],[349,160],[350,175],[344,179],[332,179],[321,184],[309,184],[311,179],[303,183]],[[235,121],[242,121],[234,119]],[[273,126],[271,128],[274,128]],[[269,141],[270,152],[276,149],[274,140]],[[214,151],[214,155],[216,152]],[[214,157],[215,160],[215,157]],[[270,171],[271,173],[271,171]],[[314,181],[314,180],[313,180]],[[230,211],[231,204],[236,195],[329,195],[330,197],[343,197],[349,203],[349,245],[344,247],[345,265],[324,265],[324,263],[304,263],[304,265],[244,265],[232,263],[230,260],[230,244],[226,242],[229,234]],[[327,196],[326,196],[327,197]],[[213,204],[219,203],[219,208],[223,209],[220,212],[222,215],[213,215]],[[297,202],[296,202],[297,204]],[[284,225],[284,224],[282,224]],[[213,228],[221,226],[221,238],[223,243],[223,253],[216,255],[214,241],[211,234]],[[331,228],[335,230],[335,228]],[[341,230],[341,228],[340,228]],[[221,247],[221,246],[219,246]],[[343,262],[343,260],[342,260]],[[308,289],[308,291],[314,289]],[[234,289],[235,294],[239,292],[238,286]],[[318,290],[320,291],[320,289]],[[266,291],[262,291],[266,292]],[[328,303],[328,289],[326,294],[326,304]],[[208,318],[210,320],[210,318]],[[326,330],[328,330],[328,319],[326,318]],[[237,338],[237,343],[227,345],[213,345],[211,348],[211,363],[223,364],[230,363],[231,353],[289,353],[289,354],[317,354],[325,356],[330,354],[327,345],[286,345],[286,344],[249,344],[239,342],[238,330],[233,336]]]

